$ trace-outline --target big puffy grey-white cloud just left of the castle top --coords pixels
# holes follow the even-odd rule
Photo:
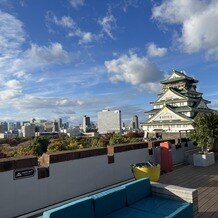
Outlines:
[[[141,90],[159,91],[163,72],[146,57],[130,53],[117,59],[105,61],[105,67],[112,82],[124,81]]]

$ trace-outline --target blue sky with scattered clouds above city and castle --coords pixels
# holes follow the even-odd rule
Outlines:
[[[0,0],[0,120],[152,108],[173,69],[218,108],[217,0]]]

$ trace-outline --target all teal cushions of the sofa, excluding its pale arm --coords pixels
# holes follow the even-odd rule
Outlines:
[[[193,205],[152,194],[149,179],[84,197],[43,213],[43,218],[191,218]]]

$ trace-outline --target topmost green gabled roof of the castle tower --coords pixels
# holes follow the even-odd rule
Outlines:
[[[198,83],[198,80],[194,79],[193,77],[189,77],[183,72],[173,70],[173,74],[168,79],[161,81],[161,84],[168,84],[186,80],[190,83]]]

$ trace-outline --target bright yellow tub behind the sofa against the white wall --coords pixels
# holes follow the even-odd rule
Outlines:
[[[132,166],[135,179],[148,177],[151,181],[157,182],[160,178],[160,165],[157,166]]]

